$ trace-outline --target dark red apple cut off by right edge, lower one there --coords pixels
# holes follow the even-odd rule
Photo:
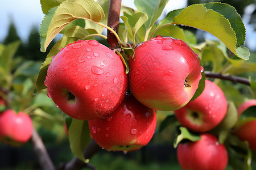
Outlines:
[[[247,141],[251,150],[256,151],[256,120],[245,122],[234,132],[241,141]]]

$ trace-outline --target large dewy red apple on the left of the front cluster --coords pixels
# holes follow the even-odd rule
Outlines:
[[[53,58],[44,84],[61,111],[93,120],[109,116],[122,103],[127,75],[113,50],[96,40],[78,40]]]

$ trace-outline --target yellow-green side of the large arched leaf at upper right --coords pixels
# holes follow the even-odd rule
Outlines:
[[[223,7],[226,6],[224,5],[224,3],[218,3],[218,5],[223,5]],[[236,23],[238,23],[237,25],[241,24],[240,20],[238,20]],[[187,25],[189,27],[202,29],[204,31],[212,33],[212,35],[216,36],[218,39],[224,42],[224,44],[236,56],[242,59],[249,59],[249,50],[245,47],[236,46],[236,32],[240,31],[236,30],[235,32],[229,22],[229,19],[225,18],[222,14],[210,8],[206,8],[200,4],[194,4],[184,9],[171,11],[166,15],[163,20],[159,22],[158,29],[170,24]],[[235,27],[234,29],[238,28]],[[243,31],[241,30],[241,32]],[[241,38],[240,42],[242,42],[242,40],[243,39]]]

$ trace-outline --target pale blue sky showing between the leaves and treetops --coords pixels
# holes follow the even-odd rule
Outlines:
[[[135,8],[134,0],[123,0],[122,3]],[[187,6],[187,1],[185,0],[170,0],[164,11],[168,12],[185,6]],[[0,42],[7,35],[11,19],[14,20],[20,38],[26,41],[32,25],[36,25],[39,28],[43,18],[44,14],[39,0],[2,0],[0,5]],[[247,31],[246,45],[249,48],[256,49],[256,32],[253,32],[253,28],[246,24],[246,19],[243,21]]]

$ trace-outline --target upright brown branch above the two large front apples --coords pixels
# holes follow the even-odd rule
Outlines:
[[[110,0],[109,1],[109,15],[108,15],[108,26],[114,29],[118,33],[119,27],[119,18],[121,10],[121,0]],[[120,45],[117,41],[117,38],[112,32],[108,30],[108,42],[110,44],[110,49],[116,49]]]

